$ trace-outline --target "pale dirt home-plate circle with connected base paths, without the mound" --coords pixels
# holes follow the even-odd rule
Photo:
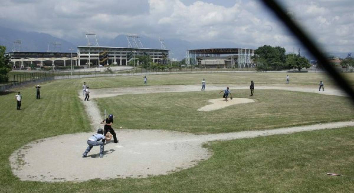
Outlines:
[[[207,85],[207,90],[222,90],[224,85]],[[199,91],[200,85],[139,86],[116,89],[91,89],[91,97],[112,97],[122,94]],[[231,90],[248,89],[247,86],[230,85]],[[339,95],[339,90],[316,88],[260,86],[256,89],[293,90],[319,94]],[[102,94],[104,93],[104,94]],[[81,91],[78,92],[81,96]],[[102,113],[93,100],[83,101],[92,126],[96,130],[102,125]],[[115,130],[119,143],[105,145],[107,157],[98,158],[99,147],[94,147],[89,157],[81,158],[87,147],[86,140],[93,132],[59,135],[26,144],[10,157],[13,173],[21,180],[31,181],[85,181],[89,179],[114,179],[126,177],[148,177],[165,175],[193,167],[199,161],[212,156],[202,144],[212,140],[253,138],[274,134],[287,134],[318,129],[333,129],[354,126],[353,121],[316,124],[302,127],[287,127],[263,131],[245,131],[195,135],[191,133],[162,130]],[[92,172],[92,168],[96,171]]]

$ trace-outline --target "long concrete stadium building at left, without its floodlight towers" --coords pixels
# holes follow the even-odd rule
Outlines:
[[[124,48],[101,46],[77,46],[77,53],[51,52],[10,52],[10,62],[13,68],[28,68],[35,65],[40,67],[68,66],[99,66],[115,64],[127,66],[129,61],[135,61],[138,66],[138,57],[147,55],[153,62],[167,64],[170,50],[150,48]]]

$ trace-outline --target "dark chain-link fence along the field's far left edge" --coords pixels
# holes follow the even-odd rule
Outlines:
[[[7,91],[30,83],[41,83],[47,80],[53,80],[54,73],[51,71],[21,73],[21,74],[7,75],[7,77],[8,77],[8,81],[6,83],[0,83],[0,91]]]

